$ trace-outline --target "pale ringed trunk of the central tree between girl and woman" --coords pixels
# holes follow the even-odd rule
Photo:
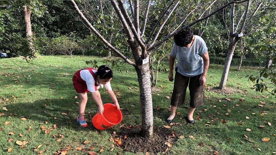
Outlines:
[[[139,83],[140,103],[142,108],[142,134],[144,137],[152,137],[153,106],[150,83],[150,66],[149,63],[142,65],[142,59],[145,59],[146,56],[142,55],[141,47],[137,43],[131,43],[130,41],[129,45],[136,63],[135,70],[137,72]],[[141,57],[139,55],[141,55]]]

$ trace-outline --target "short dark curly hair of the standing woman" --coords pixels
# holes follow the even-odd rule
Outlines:
[[[174,36],[175,44],[177,46],[183,47],[192,42],[193,32],[191,29],[184,29]]]

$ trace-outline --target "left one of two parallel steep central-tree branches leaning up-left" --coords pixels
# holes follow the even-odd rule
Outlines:
[[[125,29],[126,33],[127,33],[127,36],[129,37],[129,40],[131,42],[134,42],[134,36],[133,36],[133,33],[131,33],[131,30],[129,28],[129,25],[127,24],[122,12],[120,11],[119,7],[118,7],[118,4],[116,3],[116,1],[110,1],[115,12],[117,13],[121,23],[123,24],[123,28]]]

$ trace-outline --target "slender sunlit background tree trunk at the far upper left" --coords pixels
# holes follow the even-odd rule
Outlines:
[[[32,27],[31,27],[31,10],[29,10],[26,6],[23,6],[24,20],[26,26],[26,35],[29,44],[30,52],[34,52],[34,43],[33,43],[33,35],[32,35]]]

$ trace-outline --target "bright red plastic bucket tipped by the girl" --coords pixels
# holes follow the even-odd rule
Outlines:
[[[104,112],[102,115],[97,113],[92,118],[92,123],[96,129],[105,130],[113,125],[117,125],[122,122],[123,115],[120,109],[112,103],[106,103],[104,106]]]

